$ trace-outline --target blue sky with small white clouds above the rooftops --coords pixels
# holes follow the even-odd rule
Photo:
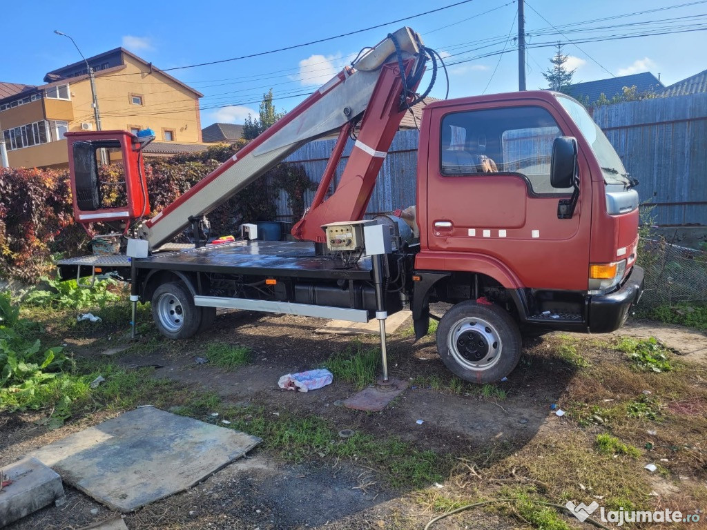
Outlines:
[[[547,86],[541,72],[550,66],[549,57],[554,53],[553,47],[534,46],[556,41],[565,44],[564,53],[571,56],[569,64],[577,68],[575,82],[606,78],[610,76],[607,72],[620,76],[651,71],[656,76],[660,73],[668,85],[707,69],[707,57],[702,53],[707,31],[578,45],[568,42],[707,28],[707,1],[529,2],[525,6],[529,89]],[[86,57],[124,46],[167,69],[331,37],[453,3],[454,0],[6,2],[0,18],[0,34],[6,44],[0,81],[40,84],[47,71],[80,59],[71,42],[54,35],[54,29],[74,37]],[[645,13],[679,4],[692,5]],[[292,95],[315,90],[351,61],[358,49],[375,45],[388,31],[409,25],[422,34],[426,45],[448,55],[450,64],[464,61],[449,67],[450,98],[477,95],[484,90],[507,92],[518,89],[518,54],[513,40],[517,35],[516,11],[515,1],[473,0],[320,44],[170,73],[206,95],[201,100],[202,126],[216,121],[243,123],[248,112],[257,112],[262,94],[270,87],[276,107],[289,110],[303,100],[303,96]],[[504,47],[510,52],[498,54]],[[494,55],[479,57],[489,53]],[[443,98],[445,88],[440,77],[431,95]]]

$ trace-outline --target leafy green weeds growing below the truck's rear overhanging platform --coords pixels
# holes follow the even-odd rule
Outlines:
[[[42,276],[41,280],[49,286],[49,290],[31,290],[23,302],[35,306],[82,310],[96,306],[103,309],[107,302],[120,300],[119,295],[109,290],[117,285],[112,279],[95,281],[90,287],[79,287],[76,280],[50,280],[47,276]]]

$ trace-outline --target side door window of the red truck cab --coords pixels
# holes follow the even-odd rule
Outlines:
[[[561,131],[541,107],[453,112],[442,119],[442,175],[520,174],[535,194],[564,194],[550,185],[552,142]]]

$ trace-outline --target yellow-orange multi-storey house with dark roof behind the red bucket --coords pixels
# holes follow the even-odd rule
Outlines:
[[[124,48],[89,57],[101,129],[153,129],[146,155],[202,151],[203,94]],[[0,130],[11,167],[66,167],[66,131],[97,129],[83,61],[47,73],[45,85],[0,83]]]

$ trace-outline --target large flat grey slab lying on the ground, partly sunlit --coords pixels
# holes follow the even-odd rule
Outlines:
[[[145,406],[32,456],[110,509],[131,512],[192,487],[259,442],[244,432]]]

